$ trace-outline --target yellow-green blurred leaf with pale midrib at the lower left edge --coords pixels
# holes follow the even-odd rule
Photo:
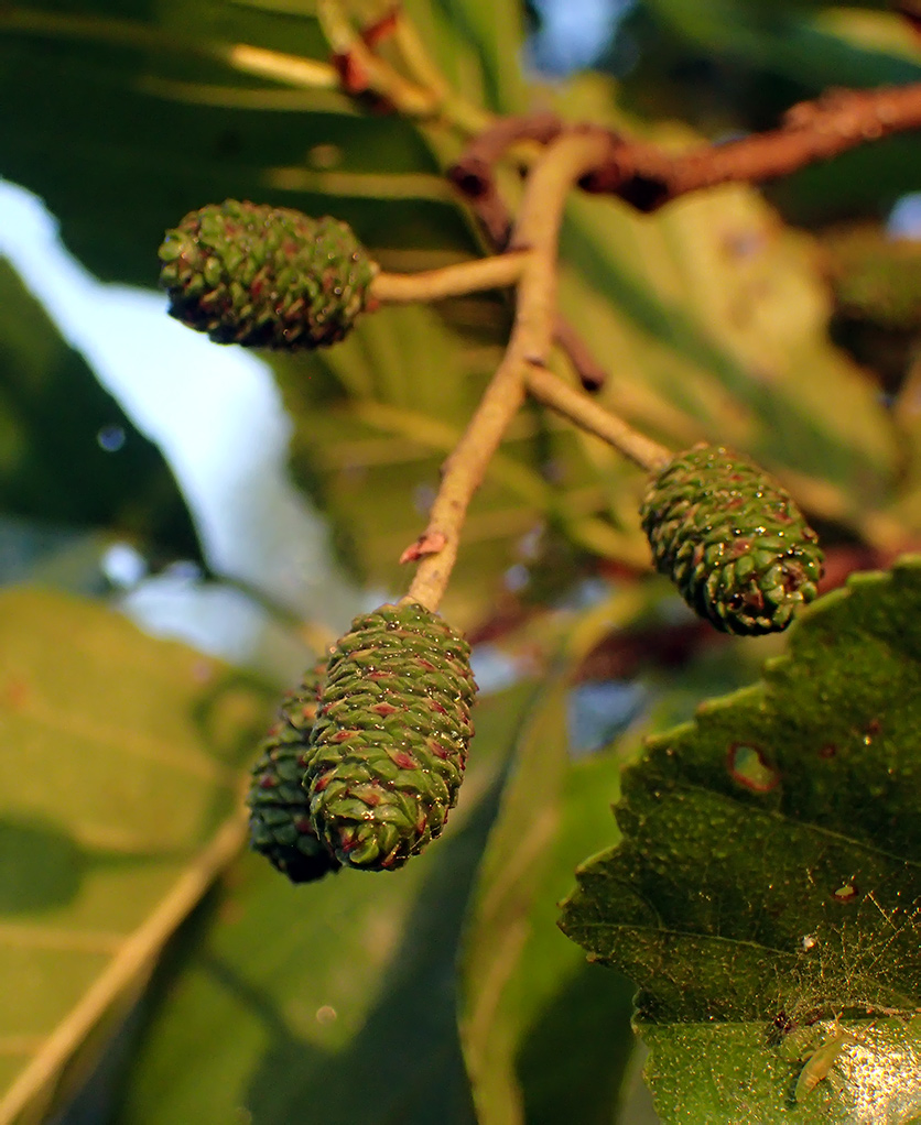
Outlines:
[[[236,818],[214,834],[266,696],[98,605],[20,588],[0,609],[0,1122],[26,1125],[239,848]]]

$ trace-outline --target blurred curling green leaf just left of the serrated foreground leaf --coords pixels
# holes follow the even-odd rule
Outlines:
[[[606,753],[573,759],[573,667],[600,639],[649,623],[661,609],[659,591],[627,590],[580,614],[521,729],[460,962],[462,1042],[480,1125],[611,1125],[618,1113],[626,1125],[638,1112],[626,1088],[634,988],[585,964],[554,925],[557,903],[578,862],[610,844],[610,804],[640,731],[683,718],[707,691],[744,682],[760,647],[721,638],[661,682],[644,676],[647,712]]]

